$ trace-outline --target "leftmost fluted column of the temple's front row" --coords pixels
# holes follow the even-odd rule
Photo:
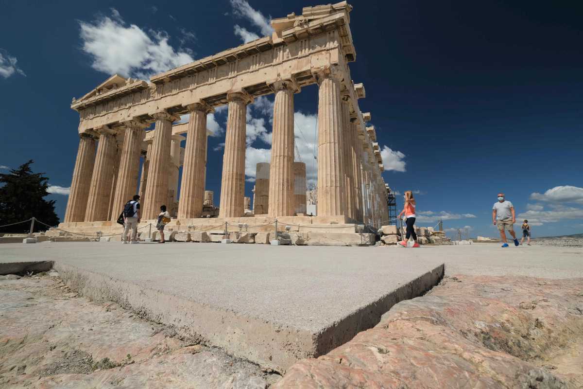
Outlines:
[[[71,181],[71,192],[69,193],[65,211],[65,223],[85,220],[94,163],[95,138],[93,135],[80,134],[77,159],[75,160],[75,169],[73,170],[73,179]]]

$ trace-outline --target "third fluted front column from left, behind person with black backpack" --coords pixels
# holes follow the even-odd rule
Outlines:
[[[121,149],[111,220],[117,220],[118,215],[124,209],[125,203],[136,194],[143,129],[146,128],[146,124],[136,120],[126,121],[124,125],[126,129]]]

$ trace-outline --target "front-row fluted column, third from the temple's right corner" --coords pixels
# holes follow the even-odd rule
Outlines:
[[[219,218],[243,216],[245,196],[245,132],[247,104],[251,97],[243,92],[227,94],[229,115],[224,141],[223,177],[220,190]]]

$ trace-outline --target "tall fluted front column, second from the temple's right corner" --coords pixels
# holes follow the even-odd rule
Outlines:
[[[269,170],[269,216],[293,216],[293,159],[294,83],[289,80],[273,83],[273,136],[271,142],[271,167]]]

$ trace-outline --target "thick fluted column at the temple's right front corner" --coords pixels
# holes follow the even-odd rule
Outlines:
[[[317,74],[318,216],[345,214],[340,78],[334,68]]]

